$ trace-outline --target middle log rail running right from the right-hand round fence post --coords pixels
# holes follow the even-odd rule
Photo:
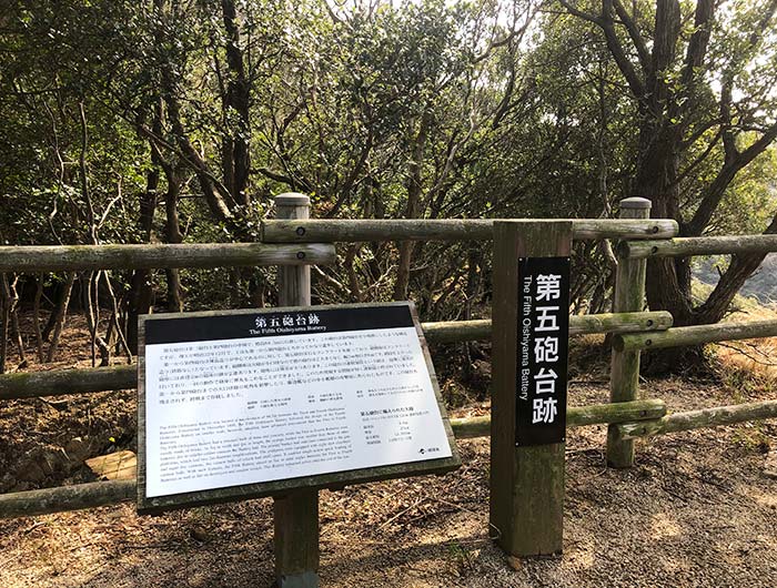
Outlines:
[[[777,336],[777,320],[748,321],[678,326],[656,333],[619,334],[613,338],[613,347],[618,351],[656,349],[774,336]]]

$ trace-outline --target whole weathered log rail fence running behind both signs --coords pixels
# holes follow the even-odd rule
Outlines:
[[[331,221],[299,216],[294,217],[290,213],[287,220],[265,221],[261,243],[3,246],[0,247],[0,273],[258,265],[305,267],[333,263],[333,244],[340,242],[493,239],[492,220]],[[567,413],[571,427],[609,425],[607,459],[615,467],[628,467],[634,463],[636,437],[777,416],[777,402],[667,415],[660,399],[638,399],[639,357],[644,349],[777,335],[777,321],[673,328],[669,313],[643,312],[645,264],[649,257],[777,251],[774,235],[677,239],[677,232],[675,221],[649,219],[649,201],[643,199],[623,201],[622,217],[617,220],[572,220],[575,240],[619,241],[615,312],[572,316],[569,321],[571,335],[614,334],[610,403],[574,407]],[[295,280],[293,275],[292,281]],[[492,332],[491,321],[424,323],[422,326],[433,344],[490,339]],[[7,374],[0,376],[0,401],[133,388],[137,381],[134,365]],[[458,438],[492,433],[487,416],[453,419],[452,427]],[[134,498],[134,480],[6,494],[0,495],[0,518],[89,508]]]

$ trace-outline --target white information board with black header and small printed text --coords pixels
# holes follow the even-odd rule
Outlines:
[[[145,322],[148,498],[452,457],[407,305],[185,321]]]

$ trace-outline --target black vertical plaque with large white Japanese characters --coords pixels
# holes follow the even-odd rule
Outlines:
[[[569,257],[518,260],[515,445],[566,439]]]

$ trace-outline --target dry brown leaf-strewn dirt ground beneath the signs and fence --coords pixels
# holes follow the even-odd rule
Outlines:
[[[606,373],[574,377],[571,404],[606,402]],[[643,389],[672,410],[777,398],[771,385],[737,379],[734,368],[715,381],[650,381]],[[89,440],[90,452],[131,447],[133,395],[3,405],[2,490],[90,479],[79,464],[42,468],[42,477],[24,473],[38,481],[11,474],[74,436]],[[486,408],[471,405],[454,414]],[[472,439],[460,442],[463,467],[443,477],[322,491],[322,586],[777,586],[777,479],[764,472],[765,454],[777,449],[774,420],[640,442],[628,470],[605,467],[605,427],[571,429],[567,439],[563,557],[513,569],[492,545],[488,442]],[[139,517],[128,504],[0,521],[2,588],[272,582],[270,499],[159,517]]]

